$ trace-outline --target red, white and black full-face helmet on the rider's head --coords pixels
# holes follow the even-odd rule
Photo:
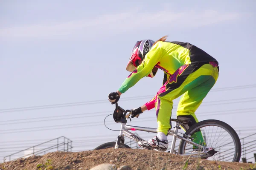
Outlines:
[[[134,48],[131,51],[131,57],[126,67],[127,71],[134,71],[139,66],[139,61],[143,61],[145,55],[153,46],[153,40],[141,40],[137,41]]]

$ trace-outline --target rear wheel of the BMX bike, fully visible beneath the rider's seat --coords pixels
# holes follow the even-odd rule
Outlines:
[[[198,133],[200,133],[198,135]],[[204,120],[196,123],[183,136],[202,136],[204,146],[212,147],[214,153],[207,156],[209,160],[239,162],[241,157],[241,142],[236,131],[227,123],[219,120]],[[190,139],[192,140],[192,139]],[[196,140],[196,139],[195,139]],[[193,140],[195,142],[195,140]],[[195,142],[198,143],[198,142]],[[196,151],[196,147],[180,141],[179,154],[189,154]],[[216,151],[216,152],[215,152]]]

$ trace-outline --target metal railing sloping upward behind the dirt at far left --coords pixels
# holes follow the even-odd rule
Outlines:
[[[52,142],[56,142],[56,144],[51,144],[49,146],[50,143]],[[44,147],[44,144],[47,144],[47,146],[45,146],[45,148],[42,149],[42,147]],[[16,159],[20,159],[20,158],[24,158],[24,157],[29,157],[29,156],[33,156],[33,155],[40,155],[40,154],[46,154],[48,153],[50,150],[53,149],[57,149],[55,151],[64,151],[64,152],[71,152],[72,151],[72,141],[64,136],[49,140],[47,142],[26,148],[24,150],[20,150],[16,153],[13,153],[11,155],[5,156],[3,157],[3,162],[5,162],[7,159],[9,159],[9,161],[11,160],[16,160]],[[29,154],[26,154],[26,152],[30,152]],[[23,156],[18,156],[22,154]]]

